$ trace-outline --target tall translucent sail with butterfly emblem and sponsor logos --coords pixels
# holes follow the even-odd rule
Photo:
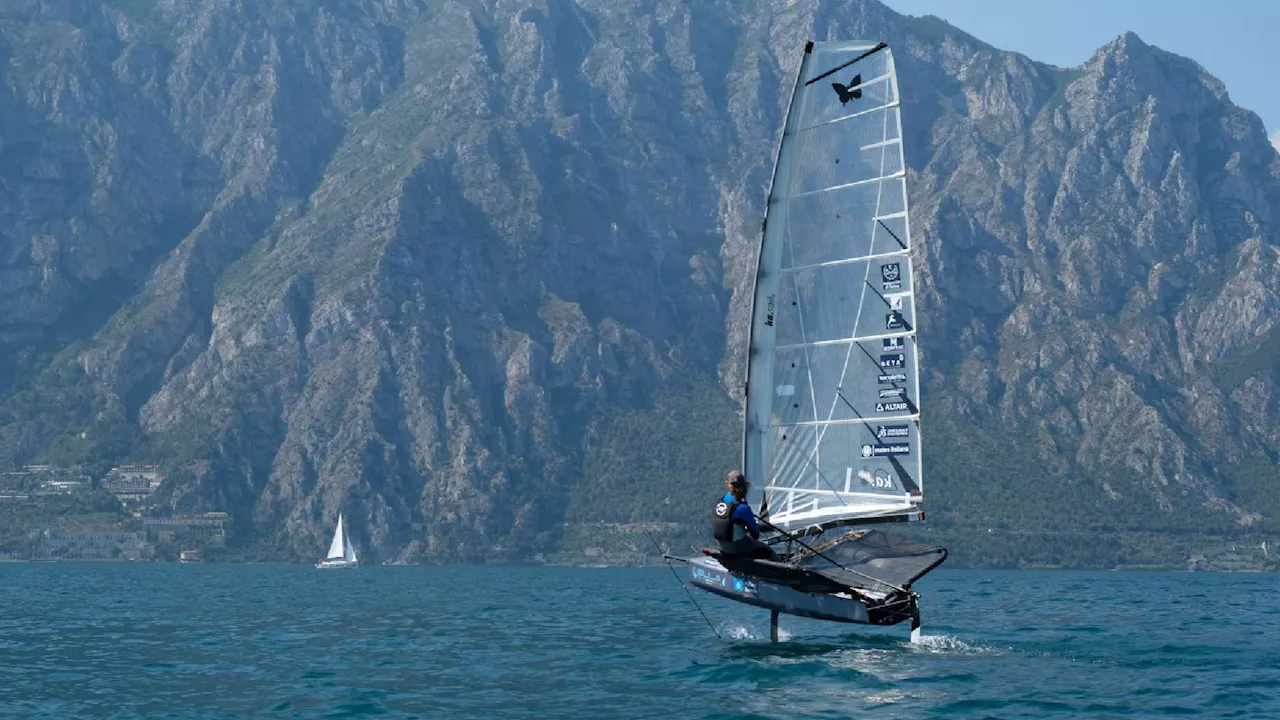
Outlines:
[[[769,190],[748,365],[749,500],[778,528],[918,512],[910,249],[893,55],[810,44]]]

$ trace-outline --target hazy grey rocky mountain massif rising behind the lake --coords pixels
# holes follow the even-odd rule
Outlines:
[[[0,462],[159,461],[288,557],[700,518],[828,37],[900,69],[931,528],[1280,527],[1258,118],[1134,35],[1060,69],[874,0],[6,3]]]

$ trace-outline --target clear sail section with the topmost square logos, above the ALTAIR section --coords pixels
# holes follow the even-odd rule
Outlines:
[[[911,264],[905,254],[787,273],[778,283],[777,347],[915,328]]]

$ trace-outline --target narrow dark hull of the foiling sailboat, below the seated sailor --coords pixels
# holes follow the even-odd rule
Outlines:
[[[690,582],[707,592],[800,618],[835,623],[874,623],[867,606],[855,597],[800,592],[780,583],[727,570],[713,557],[689,559]]]

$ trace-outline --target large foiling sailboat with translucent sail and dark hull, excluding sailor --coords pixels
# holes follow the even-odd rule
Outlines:
[[[947,551],[861,525],[923,520],[920,380],[893,55],[809,42],[762,228],[742,469],[777,560],[704,548],[692,585],[778,614],[911,621]]]

